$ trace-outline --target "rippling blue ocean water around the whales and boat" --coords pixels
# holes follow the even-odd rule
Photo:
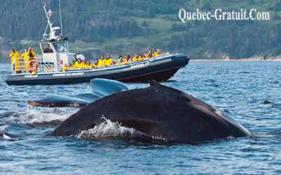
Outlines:
[[[0,174],[281,174],[281,62],[190,62],[162,83],[224,111],[253,134],[196,146],[107,141],[134,132],[110,122],[77,138],[44,137],[78,109],[31,107],[27,100],[90,92],[90,85],[8,86],[10,69],[0,64]],[[85,134],[105,139],[81,139]]]

